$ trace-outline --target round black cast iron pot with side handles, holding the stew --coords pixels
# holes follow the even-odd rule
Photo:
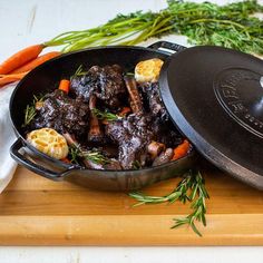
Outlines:
[[[25,138],[22,124],[25,109],[33,100],[33,95],[46,94],[56,89],[58,81],[74,75],[79,65],[87,68],[94,65],[105,66],[118,64],[125,71],[134,69],[135,65],[149,58],[166,60],[167,51],[185,49],[182,46],[168,42],[157,42],[148,48],[143,47],[104,47],[91,48],[67,53],[55,58],[30,71],[14,89],[10,100],[10,116],[17,134],[17,142],[11,146],[11,156],[28,169],[52,181],[69,181],[82,186],[106,191],[132,191],[142,188],[158,181],[182,175],[193,167],[195,154],[157,167],[138,171],[96,171],[76,165],[68,165],[50,158],[32,147]]]

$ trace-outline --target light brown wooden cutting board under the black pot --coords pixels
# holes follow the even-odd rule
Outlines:
[[[203,237],[171,230],[189,212],[179,203],[133,207],[124,193],[51,182],[18,167],[0,195],[0,245],[263,245],[263,192],[213,167],[203,171],[211,199]],[[164,195],[178,178],[144,189]]]

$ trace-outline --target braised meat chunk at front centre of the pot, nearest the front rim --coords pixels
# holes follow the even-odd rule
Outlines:
[[[124,169],[134,168],[135,162],[145,166],[147,146],[155,137],[150,120],[150,116],[132,114],[106,125],[106,135],[118,145],[118,160]]]

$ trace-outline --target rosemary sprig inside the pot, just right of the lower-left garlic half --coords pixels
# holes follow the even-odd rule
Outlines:
[[[88,159],[95,164],[109,164],[110,160],[97,150],[82,150],[80,145],[71,145],[69,147],[70,162],[79,164],[79,158]]]

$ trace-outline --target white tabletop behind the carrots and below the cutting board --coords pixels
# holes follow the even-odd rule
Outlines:
[[[23,47],[47,41],[68,30],[101,25],[120,12],[165,7],[165,0],[0,0],[0,61]],[[164,39],[186,45],[183,37]],[[249,261],[262,263],[263,247],[0,247],[0,263]]]

